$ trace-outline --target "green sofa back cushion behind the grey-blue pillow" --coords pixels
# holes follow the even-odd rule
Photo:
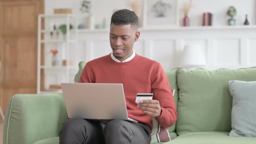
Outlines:
[[[230,80],[256,81],[256,67],[214,71],[177,70],[178,135],[199,131],[231,131]]]

